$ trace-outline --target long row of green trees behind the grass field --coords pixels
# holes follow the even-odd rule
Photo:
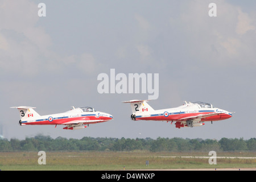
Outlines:
[[[67,139],[36,135],[35,137],[19,139],[1,139],[0,151],[256,151],[256,138],[215,139],[130,139],[130,138],[92,138]]]

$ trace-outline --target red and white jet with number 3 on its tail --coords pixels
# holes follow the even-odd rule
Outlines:
[[[79,107],[59,114],[39,115],[36,107],[11,107],[19,110],[20,125],[65,125],[63,129],[78,130],[84,129],[89,124],[110,121],[113,116],[108,113],[96,111],[93,107]]]

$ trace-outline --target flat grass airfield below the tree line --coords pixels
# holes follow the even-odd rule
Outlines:
[[[185,158],[185,156],[192,156]],[[205,158],[197,158],[204,156]],[[46,165],[39,165],[38,152],[0,152],[0,169],[5,170],[126,170],[191,168],[256,168],[256,152],[217,152],[217,164],[210,165],[202,152],[46,152]],[[246,157],[240,159],[236,157]],[[252,159],[249,157],[253,157]],[[149,166],[146,166],[146,160]]]

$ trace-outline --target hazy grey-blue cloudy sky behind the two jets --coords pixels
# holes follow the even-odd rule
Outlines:
[[[38,4],[46,4],[46,17]],[[210,17],[209,3],[217,5]],[[0,0],[0,126],[7,139],[255,138],[256,1]],[[176,129],[130,120],[129,104],[146,94],[100,94],[100,73],[159,73],[154,109],[210,102],[233,118]],[[18,110],[55,114],[93,106],[113,121],[67,131],[19,126]],[[1,130],[0,130],[1,131]]]

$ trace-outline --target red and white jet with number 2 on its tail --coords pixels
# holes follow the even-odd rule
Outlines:
[[[186,102],[182,106],[170,109],[154,110],[147,104],[149,100],[131,100],[123,103],[130,103],[131,119],[153,120],[153,121],[171,121],[176,122],[177,128],[202,126],[205,121],[219,121],[232,117],[232,114],[226,110],[213,107],[212,104],[205,102]]]

